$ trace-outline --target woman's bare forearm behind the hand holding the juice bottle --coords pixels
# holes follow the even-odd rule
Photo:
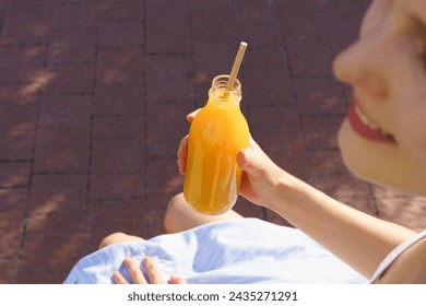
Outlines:
[[[282,181],[267,208],[366,278],[394,247],[416,234],[347,207],[297,178]]]

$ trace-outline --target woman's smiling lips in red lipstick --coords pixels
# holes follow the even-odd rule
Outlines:
[[[364,115],[356,99],[350,105],[347,119],[352,128],[364,138],[377,142],[395,143],[395,140],[391,134],[382,132],[376,123]]]

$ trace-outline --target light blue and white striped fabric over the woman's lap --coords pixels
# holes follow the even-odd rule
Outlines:
[[[64,283],[113,283],[117,270],[130,280],[123,259],[132,257],[142,267],[145,256],[157,261],[165,280],[177,274],[190,284],[368,283],[300,231],[258,219],[111,245],[82,258]]]

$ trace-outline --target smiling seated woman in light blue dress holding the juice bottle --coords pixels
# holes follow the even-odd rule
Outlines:
[[[426,2],[376,0],[359,39],[333,66],[336,78],[354,91],[339,132],[347,167],[368,181],[422,196],[426,196],[425,55]],[[186,148],[187,138],[178,151],[181,173]],[[114,274],[117,283],[166,279],[170,283],[186,279],[189,283],[426,283],[426,231],[414,233],[340,203],[277,167],[253,140],[237,162],[244,169],[240,193],[298,229],[242,219],[234,211],[216,217],[199,215],[178,195],[165,220],[166,229],[176,234],[147,242],[125,234],[106,237],[99,250],[105,254],[96,256],[115,261],[96,270],[105,279],[91,280],[111,280]],[[91,274],[85,269],[91,260],[74,268],[80,278]],[[68,282],[78,282],[75,275],[71,272]]]

